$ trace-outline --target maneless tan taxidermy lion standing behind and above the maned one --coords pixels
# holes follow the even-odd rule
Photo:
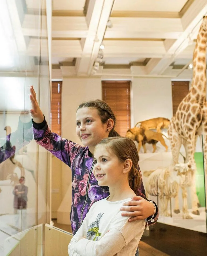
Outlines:
[[[140,124],[140,127],[144,128],[145,130],[156,129],[157,132],[161,132],[161,129],[168,129],[170,120],[164,117],[157,117],[138,122],[136,123],[135,127],[137,124]]]

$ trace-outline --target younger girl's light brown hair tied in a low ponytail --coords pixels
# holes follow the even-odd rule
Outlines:
[[[132,160],[132,168],[129,171],[129,186],[137,193],[140,188],[141,177],[137,169],[139,162],[139,155],[133,140],[126,137],[108,137],[99,142],[96,147],[105,146],[107,150],[111,150],[119,159],[120,162],[124,162],[127,159]],[[95,147],[95,149],[96,149]]]

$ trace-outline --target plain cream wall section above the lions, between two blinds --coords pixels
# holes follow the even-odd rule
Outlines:
[[[132,127],[154,117],[172,117],[170,78],[134,78],[132,80]]]

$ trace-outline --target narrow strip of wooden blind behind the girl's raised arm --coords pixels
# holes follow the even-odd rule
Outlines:
[[[62,82],[52,82],[51,124],[52,131],[61,135]]]

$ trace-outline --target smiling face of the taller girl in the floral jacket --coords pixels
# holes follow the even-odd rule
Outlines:
[[[76,133],[91,153],[94,153],[96,144],[108,137],[107,125],[102,124],[98,110],[93,107],[82,107],[76,112]]]

